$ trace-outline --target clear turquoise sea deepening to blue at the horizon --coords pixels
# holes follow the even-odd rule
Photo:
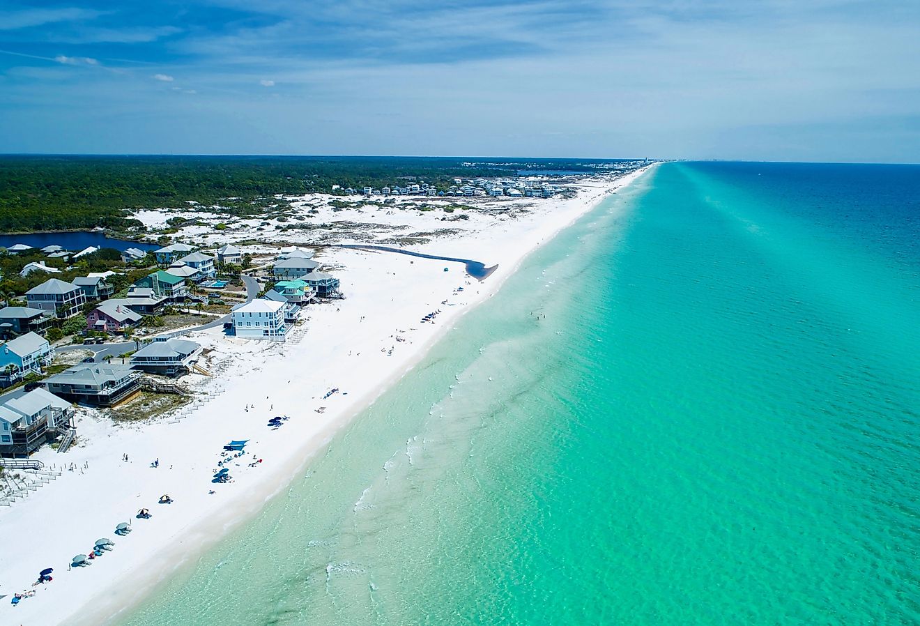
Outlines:
[[[920,623],[918,169],[827,168],[605,201],[121,623]]]

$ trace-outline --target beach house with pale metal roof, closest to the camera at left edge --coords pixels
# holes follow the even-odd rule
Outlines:
[[[74,428],[74,408],[51,392],[32,389],[0,403],[0,457],[28,457]]]

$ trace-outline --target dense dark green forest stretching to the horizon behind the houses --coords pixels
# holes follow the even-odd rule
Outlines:
[[[488,162],[486,162],[488,161]],[[130,212],[195,201],[251,209],[275,194],[335,193],[396,180],[446,188],[454,178],[512,177],[519,170],[589,171],[613,160],[428,157],[0,156],[0,232],[139,226]],[[227,199],[233,200],[227,200]]]

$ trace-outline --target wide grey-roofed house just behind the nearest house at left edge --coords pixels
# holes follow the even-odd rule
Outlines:
[[[140,390],[141,376],[128,365],[87,363],[46,378],[45,386],[64,400],[111,406]]]

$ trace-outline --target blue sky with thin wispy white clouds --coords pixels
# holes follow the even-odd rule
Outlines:
[[[0,153],[920,162],[917,0],[0,2]]]

